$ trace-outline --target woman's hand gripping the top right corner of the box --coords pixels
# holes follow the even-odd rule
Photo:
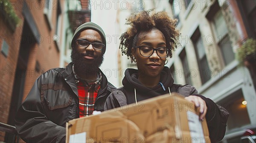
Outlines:
[[[188,97],[185,97],[185,99],[192,102],[192,103],[195,103],[196,107],[200,107],[200,117],[199,117],[199,119],[201,121],[203,121],[204,117],[206,115],[206,112],[207,112],[207,106],[206,106],[205,101],[201,97],[198,97],[198,96],[195,96],[195,95],[189,95]]]

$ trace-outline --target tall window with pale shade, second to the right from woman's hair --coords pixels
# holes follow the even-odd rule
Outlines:
[[[211,74],[209,74],[208,72],[211,72],[211,70],[209,70],[205,48],[199,28],[195,30],[195,33],[192,35],[191,40],[195,47],[195,53],[198,61],[201,82],[202,84],[204,84],[210,79],[209,75]]]

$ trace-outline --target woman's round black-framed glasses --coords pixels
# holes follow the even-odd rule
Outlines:
[[[157,51],[157,55],[160,58],[168,57],[169,54],[170,54],[170,50],[167,49],[166,47],[159,47],[157,49],[154,49],[154,48],[152,48],[150,46],[137,46],[135,48],[139,48],[140,49],[140,54],[143,57],[150,57],[154,53],[154,51]]]

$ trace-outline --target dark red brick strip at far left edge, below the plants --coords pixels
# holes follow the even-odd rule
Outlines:
[[[3,40],[9,45],[7,57],[2,52],[0,53],[0,122],[2,123],[7,123],[8,120],[12,86],[15,79],[13,72],[16,69],[20,48],[18,37],[20,37],[23,27],[21,9],[15,9],[15,11],[18,17],[20,17],[20,23],[14,33],[12,33],[4,20],[0,20],[0,48],[2,50]],[[3,135],[3,132],[1,132],[0,141],[3,141]]]

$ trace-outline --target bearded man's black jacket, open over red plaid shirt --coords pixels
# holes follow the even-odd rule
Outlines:
[[[79,118],[79,98],[72,65],[70,63],[65,69],[50,69],[35,81],[15,117],[17,132],[24,141],[65,141],[66,122]],[[95,110],[103,111],[111,89],[115,87],[102,73]]]

